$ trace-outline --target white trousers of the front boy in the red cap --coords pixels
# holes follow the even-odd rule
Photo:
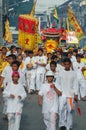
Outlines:
[[[8,114],[8,130],[19,130],[21,114]]]

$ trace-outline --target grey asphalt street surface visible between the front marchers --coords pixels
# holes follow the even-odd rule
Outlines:
[[[81,108],[81,116],[77,110],[74,113],[74,129],[86,130],[86,102],[79,102]],[[7,130],[7,121],[3,121],[2,117],[3,101],[0,95],[0,130]],[[22,113],[20,130],[45,130],[41,107],[38,106],[37,95],[28,95]],[[59,130],[57,125],[57,130]]]

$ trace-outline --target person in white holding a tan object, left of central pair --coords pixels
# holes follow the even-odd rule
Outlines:
[[[26,81],[28,92],[33,94],[36,84],[36,58],[33,56],[33,51],[29,51],[29,57],[25,60],[26,65]]]

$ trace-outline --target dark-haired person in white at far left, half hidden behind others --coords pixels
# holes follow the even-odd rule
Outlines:
[[[0,86],[3,86],[3,89],[6,88],[9,82],[12,81],[11,75],[12,75],[12,67],[11,64],[12,62],[15,62],[16,56],[11,54],[8,56],[8,65],[3,69],[1,78],[0,78]],[[11,74],[11,75],[10,75]],[[6,113],[6,108],[7,108],[7,100],[6,98],[3,98],[3,119],[7,120],[7,113]]]

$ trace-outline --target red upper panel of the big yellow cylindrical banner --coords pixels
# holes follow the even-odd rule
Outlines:
[[[25,18],[19,17],[18,29],[23,31],[23,32],[26,32],[26,33],[35,34],[36,22],[35,22],[35,20],[25,19]]]

